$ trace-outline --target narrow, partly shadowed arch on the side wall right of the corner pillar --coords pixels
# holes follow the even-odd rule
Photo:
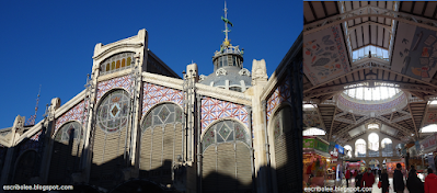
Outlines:
[[[268,123],[268,143],[271,163],[273,170],[272,181],[276,182],[278,192],[287,192],[288,183],[292,179],[292,166],[288,160],[291,157],[291,106],[283,102],[272,113],[272,121]]]

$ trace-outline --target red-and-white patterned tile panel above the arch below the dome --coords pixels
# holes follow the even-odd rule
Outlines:
[[[234,117],[249,126],[248,111],[244,105],[208,96],[202,99],[202,132],[214,121],[225,117]]]

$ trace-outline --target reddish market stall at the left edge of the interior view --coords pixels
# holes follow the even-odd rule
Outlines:
[[[329,143],[318,137],[303,137],[303,182],[308,186],[323,186],[331,155]]]

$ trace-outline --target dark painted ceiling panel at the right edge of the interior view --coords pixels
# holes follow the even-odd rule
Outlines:
[[[437,32],[400,22],[392,61],[393,71],[430,81],[437,70]]]

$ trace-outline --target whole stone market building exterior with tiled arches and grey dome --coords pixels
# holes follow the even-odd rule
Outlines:
[[[1,184],[79,184],[101,192],[301,190],[301,36],[268,77],[226,38],[214,72],[181,78],[148,33],[96,44],[87,88],[25,126],[1,129]],[[294,118],[290,118],[294,117]]]

